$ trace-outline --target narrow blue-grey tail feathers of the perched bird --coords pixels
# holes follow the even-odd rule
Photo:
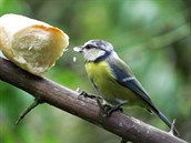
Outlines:
[[[179,135],[178,131],[175,130],[174,125],[162,114],[160,111],[154,112],[173,132],[174,135]]]

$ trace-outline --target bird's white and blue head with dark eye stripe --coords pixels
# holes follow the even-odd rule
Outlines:
[[[86,61],[97,62],[105,59],[113,51],[111,43],[103,40],[90,40],[83,45],[73,48],[76,52],[83,53]]]

